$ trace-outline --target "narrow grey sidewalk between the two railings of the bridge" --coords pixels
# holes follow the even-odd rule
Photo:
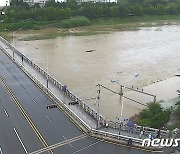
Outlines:
[[[6,44],[0,41],[0,46],[3,47],[11,56],[13,56],[13,50],[10,49]],[[22,57],[20,57],[16,53],[14,53],[14,59],[22,63]],[[34,77],[36,77],[39,81],[41,81],[41,83],[44,86],[47,85],[47,79],[25,60],[23,60],[23,66],[29,71],[29,73],[31,73]],[[69,107],[76,115],[78,115],[78,117],[80,117],[87,125],[89,125],[91,128],[96,129],[97,120],[94,119],[92,116],[90,116],[87,112],[85,112],[81,106],[69,105],[69,102],[73,100],[67,95],[64,95],[64,93],[61,90],[59,90],[57,87],[55,87],[52,82],[49,82],[48,88],[56,97],[58,97],[64,104],[66,104],[67,107]],[[99,129],[113,134],[119,134],[119,129],[110,128],[110,127],[108,128],[101,127]],[[139,132],[129,133],[128,131],[121,130],[120,135],[139,138]],[[145,138],[145,136],[143,138]]]

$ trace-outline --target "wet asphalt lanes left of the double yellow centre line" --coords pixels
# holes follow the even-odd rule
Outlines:
[[[22,141],[22,143],[20,142]],[[24,146],[23,148],[23,145]],[[30,125],[22,116],[15,102],[0,81],[0,153],[25,153],[39,148],[39,141]]]

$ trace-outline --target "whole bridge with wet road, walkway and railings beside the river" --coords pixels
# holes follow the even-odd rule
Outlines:
[[[131,133],[107,121],[2,37],[0,91],[1,154],[165,153],[141,147],[141,126]],[[156,131],[145,127],[145,135]],[[127,145],[129,139],[133,145]]]

